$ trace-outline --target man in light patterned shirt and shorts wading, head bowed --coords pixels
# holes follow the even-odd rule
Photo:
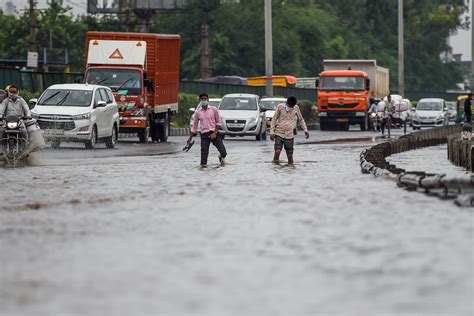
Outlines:
[[[293,145],[294,134],[293,127],[298,121],[301,128],[304,130],[305,138],[309,138],[308,128],[301,114],[300,108],[296,104],[295,97],[288,97],[286,103],[280,103],[275,110],[272,118],[272,125],[270,127],[270,139],[275,141],[275,154],[273,155],[273,162],[280,161],[280,154],[283,148],[286,151],[288,164],[293,164]]]

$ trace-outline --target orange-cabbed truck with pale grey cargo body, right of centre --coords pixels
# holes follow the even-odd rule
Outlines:
[[[368,128],[371,101],[389,93],[389,70],[375,60],[324,60],[316,82],[321,130]]]

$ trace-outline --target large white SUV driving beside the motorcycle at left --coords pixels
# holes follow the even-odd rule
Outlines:
[[[83,142],[92,149],[99,141],[114,148],[119,131],[119,114],[112,90],[90,84],[57,84],[38,100],[30,100],[46,140],[53,148],[62,141]]]

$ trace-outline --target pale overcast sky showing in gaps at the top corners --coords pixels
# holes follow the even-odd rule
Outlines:
[[[22,9],[28,4],[28,0],[0,0],[0,7],[5,8],[5,4],[10,1],[17,9]],[[39,8],[46,7],[47,0],[36,0]],[[471,9],[474,1],[470,1]],[[73,8],[74,14],[85,14],[87,11],[87,0],[64,0],[64,4]],[[459,30],[450,37],[450,45],[454,54],[462,54],[462,60],[471,60],[471,30]]]

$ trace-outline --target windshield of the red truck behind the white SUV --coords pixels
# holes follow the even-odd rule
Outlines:
[[[104,85],[122,95],[140,94],[142,88],[140,71],[133,69],[90,69],[86,75],[86,83]]]

